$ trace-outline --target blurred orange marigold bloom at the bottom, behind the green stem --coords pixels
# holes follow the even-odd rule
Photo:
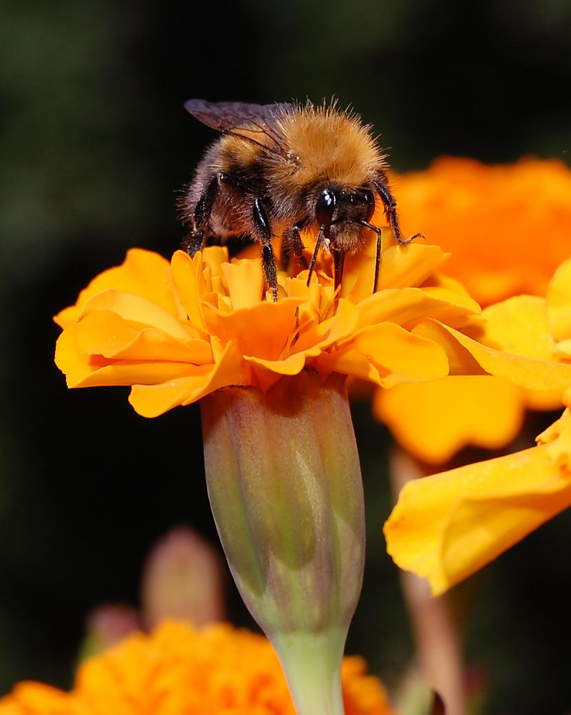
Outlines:
[[[364,661],[342,667],[347,715],[389,715]],[[27,682],[0,700],[0,715],[295,715],[266,638],[229,625],[168,621],[84,662],[70,693]]]

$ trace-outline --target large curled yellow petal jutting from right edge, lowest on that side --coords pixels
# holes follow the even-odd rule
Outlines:
[[[384,525],[387,551],[435,595],[571,505],[550,445],[409,482]]]

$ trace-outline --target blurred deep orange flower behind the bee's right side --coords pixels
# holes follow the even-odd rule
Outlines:
[[[571,250],[571,170],[557,159],[487,166],[442,157],[395,179],[401,222],[450,251],[447,274],[481,305],[545,295]]]

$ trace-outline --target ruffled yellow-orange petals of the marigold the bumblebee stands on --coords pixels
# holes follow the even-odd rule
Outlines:
[[[210,247],[169,263],[131,250],[56,316],[56,363],[69,387],[131,385],[129,400],[147,417],[227,385],[266,390],[304,368],[387,388],[437,380],[449,372],[441,336],[413,328],[432,320],[445,330],[480,311],[435,274],[446,258],[436,246],[389,247],[373,293],[372,242],[347,256],[337,294],[326,257],[309,286],[307,270],[280,274],[273,302],[257,259],[230,261]]]

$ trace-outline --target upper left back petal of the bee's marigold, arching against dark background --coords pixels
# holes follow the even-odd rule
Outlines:
[[[179,316],[180,307],[174,298],[169,262],[152,251],[133,248],[122,265],[100,273],[81,291],[75,305],[54,317],[61,327],[78,320],[85,303],[104,290],[119,290],[139,295],[154,302],[171,315]]]

